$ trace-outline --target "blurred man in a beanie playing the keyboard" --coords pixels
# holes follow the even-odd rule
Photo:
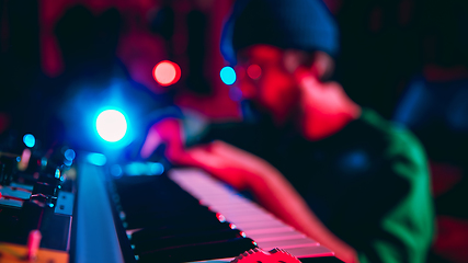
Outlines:
[[[345,262],[424,262],[433,235],[424,151],[408,130],[324,81],[338,49],[326,7],[238,1],[222,37],[225,58],[237,60],[244,121],[212,125],[198,140],[210,142],[183,148],[181,123],[167,119],[141,152],[167,141],[174,164],[249,190]]]

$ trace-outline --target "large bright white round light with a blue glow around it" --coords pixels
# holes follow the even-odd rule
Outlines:
[[[98,134],[106,141],[115,142],[127,133],[127,121],[124,114],[116,110],[106,110],[96,119]]]

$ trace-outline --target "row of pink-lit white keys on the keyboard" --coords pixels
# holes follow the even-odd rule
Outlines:
[[[199,170],[173,170],[170,178],[202,205],[236,225],[265,251],[281,248],[297,258],[333,255],[329,249]]]

